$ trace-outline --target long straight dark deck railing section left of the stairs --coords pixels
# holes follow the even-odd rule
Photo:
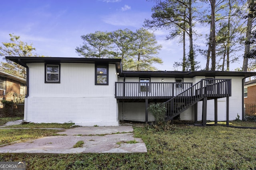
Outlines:
[[[117,99],[170,99],[192,86],[185,82],[116,82]]]

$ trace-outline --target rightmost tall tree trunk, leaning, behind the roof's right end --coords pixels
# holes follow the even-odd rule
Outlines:
[[[254,0],[248,0],[249,4],[249,14],[252,13]],[[244,49],[244,62],[242,71],[247,71],[248,69],[248,54],[250,53],[250,41],[251,41],[251,32],[252,32],[252,20],[253,16],[248,15],[247,19],[247,30],[246,30],[246,41],[245,41],[245,49]]]

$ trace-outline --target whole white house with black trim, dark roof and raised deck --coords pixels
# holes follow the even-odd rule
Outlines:
[[[24,120],[117,126],[154,121],[149,104],[166,102],[167,119],[224,121],[243,116],[244,78],[255,72],[123,71],[120,59],[6,57],[27,68]]]

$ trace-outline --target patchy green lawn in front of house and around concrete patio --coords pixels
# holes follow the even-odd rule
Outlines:
[[[256,122],[230,123],[256,127]],[[20,131],[20,134],[23,133],[27,133],[27,129]],[[134,137],[145,142],[147,153],[6,153],[0,154],[0,161],[24,160],[28,170],[256,169],[256,129],[176,125],[172,131],[156,131],[152,128],[134,127]]]

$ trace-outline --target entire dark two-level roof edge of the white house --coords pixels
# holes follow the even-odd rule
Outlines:
[[[250,77],[256,72],[236,72],[236,71],[123,71],[121,59],[94,59],[94,58],[72,58],[72,57],[6,57],[15,63],[26,67],[27,63],[104,63],[116,64],[119,76],[125,77],[174,77],[192,78],[194,76],[242,76]]]

